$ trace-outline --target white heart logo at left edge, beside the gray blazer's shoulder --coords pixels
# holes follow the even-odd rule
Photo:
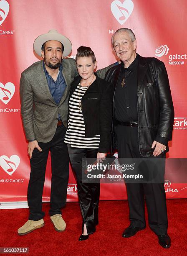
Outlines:
[[[0,100],[7,104],[13,97],[15,92],[15,86],[13,83],[8,82],[5,85],[0,83]]]

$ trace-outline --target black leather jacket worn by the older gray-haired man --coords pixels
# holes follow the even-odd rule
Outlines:
[[[101,69],[98,75],[112,82],[116,89],[121,65]],[[114,89],[114,95],[115,95]],[[138,108],[138,135],[139,151],[142,156],[152,155],[151,148],[157,136],[172,139],[174,121],[174,108],[169,80],[165,65],[156,58],[144,58],[139,56],[138,84],[137,84],[137,108]],[[115,120],[114,120],[114,98],[113,98],[113,125],[111,152],[116,148]],[[169,151],[167,146],[166,151]]]

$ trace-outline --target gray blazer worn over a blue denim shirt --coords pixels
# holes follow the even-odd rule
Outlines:
[[[53,138],[58,113],[67,126],[68,96],[71,82],[78,75],[74,59],[62,60],[62,74],[67,87],[59,105],[53,100],[48,87],[42,61],[25,69],[20,79],[21,115],[27,140],[48,142]]]

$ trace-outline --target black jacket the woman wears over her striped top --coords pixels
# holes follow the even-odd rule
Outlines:
[[[69,98],[80,80],[81,77],[76,77],[72,82]],[[96,81],[88,87],[81,99],[85,137],[91,138],[100,134],[100,153],[107,153],[110,150],[113,88],[111,83],[96,77]]]

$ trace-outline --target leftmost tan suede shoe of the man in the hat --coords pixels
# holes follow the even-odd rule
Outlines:
[[[37,228],[41,228],[44,226],[44,220],[28,220],[22,227],[20,227],[18,229],[18,235],[23,236],[26,235],[30,232],[32,232],[33,230],[37,229]]]

